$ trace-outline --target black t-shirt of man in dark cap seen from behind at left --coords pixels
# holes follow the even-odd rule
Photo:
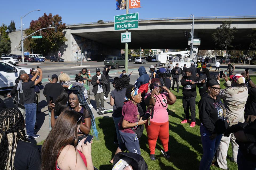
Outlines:
[[[53,96],[53,103],[55,103],[56,99],[59,97],[63,90],[64,88],[62,87],[62,85],[57,82],[46,84],[45,88],[43,89],[43,94],[46,95],[47,104],[50,103],[49,96]],[[51,111],[49,107],[48,111]]]

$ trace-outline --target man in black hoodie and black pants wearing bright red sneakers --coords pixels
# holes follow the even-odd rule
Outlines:
[[[198,75],[198,74],[197,74]],[[181,79],[181,85],[183,86],[182,105],[185,113],[185,120],[181,123],[190,123],[190,127],[195,126],[195,98],[197,96],[197,82],[199,77],[193,76],[190,69],[185,70],[185,76]],[[201,83],[205,83],[205,80],[201,80]],[[191,112],[191,121],[189,121],[189,109]]]

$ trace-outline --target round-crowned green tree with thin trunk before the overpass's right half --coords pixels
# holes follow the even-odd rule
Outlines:
[[[231,45],[234,39],[233,33],[237,32],[236,28],[230,28],[231,22],[222,22],[217,31],[212,34],[213,41],[223,50],[226,50],[226,63],[227,63],[227,48],[233,47]]]

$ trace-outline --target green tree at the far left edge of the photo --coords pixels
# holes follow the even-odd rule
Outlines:
[[[2,24],[0,27],[0,57],[2,57],[2,53],[8,53],[11,51],[11,40],[8,36],[7,26]]]

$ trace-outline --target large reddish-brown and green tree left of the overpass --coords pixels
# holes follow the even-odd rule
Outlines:
[[[37,20],[32,20],[30,22],[29,29],[26,29],[25,33],[30,35],[31,33],[47,27],[55,27],[57,25],[57,32],[54,28],[43,29],[38,31],[34,35],[42,35],[41,39],[32,39],[28,37],[25,43],[29,43],[30,49],[33,49],[34,53],[47,55],[49,52],[56,53],[59,48],[65,45],[65,34],[62,32],[63,29],[66,29],[66,24],[62,23],[61,16],[54,15],[50,13],[47,15],[44,13],[42,17],[39,17]]]

